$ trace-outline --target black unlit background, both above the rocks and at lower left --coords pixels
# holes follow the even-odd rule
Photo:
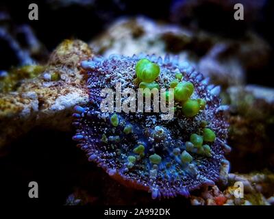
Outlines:
[[[11,29],[16,25],[30,25],[38,39],[45,45],[47,53],[51,52],[64,38],[79,38],[89,41],[103,31],[115,18],[138,14],[149,16],[157,21],[179,25],[189,25],[192,19],[195,19],[198,28],[235,40],[240,38],[247,29],[253,29],[273,47],[273,1],[265,1],[256,18],[237,23],[232,19],[233,16],[210,3],[197,8],[195,18],[187,16],[174,18],[172,6],[175,1],[108,0],[95,2],[94,5],[88,6],[75,4],[53,9],[53,5],[47,1],[1,1],[0,10],[10,14],[11,20],[8,25]],[[29,21],[29,3],[38,4],[38,21]],[[7,23],[1,25],[7,25]],[[24,41],[20,36],[18,36],[18,40]],[[17,65],[16,56],[9,50],[6,42],[0,39],[0,70],[8,70],[11,66]],[[250,73],[247,75],[247,83],[273,86],[273,69],[272,52],[271,60],[262,68],[260,75]],[[86,181],[86,184],[83,184],[85,181],[83,172],[99,171],[93,177],[97,177],[95,185],[101,185],[105,173],[98,170],[95,164],[84,159],[84,153],[75,147],[71,136],[73,133],[35,130],[23,139],[14,142],[10,153],[0,158],[1,202],[21,205],[26,203],[63,205],[68,194],[73,192],[74,185],[82,184],[82,187],[88,190],[90,179]],[[27,185],[29,181],[38,182],[38,199],[28,198],[29,188]],[[111,183],[114,182],[111,181]],[[97,193],[95,195],[103,195],[99,188],[98,190],[95,188],[95,191]],[[146,192],[139,193],[147,198],[150,196]],[[174,198],[166,203],[175,203],[175,201]]]

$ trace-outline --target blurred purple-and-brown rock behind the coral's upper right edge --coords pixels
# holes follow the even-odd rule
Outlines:
[[[215,43],[197,67],[223,88],[245,84],[254,77],[249,71],[261,71],[269,62],[270,45],[255,33],[248,32],[238,40],[214,38]]]

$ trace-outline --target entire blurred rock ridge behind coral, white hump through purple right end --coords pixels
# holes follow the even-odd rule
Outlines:
[[[178,55],[180,61],[189,62],[223,88],[244,84],[247,70],[262,68],[270,56],[269,44],[250,31],[234,40],[143,16],[119,18],[90,47],[107,57],[114,53]]]

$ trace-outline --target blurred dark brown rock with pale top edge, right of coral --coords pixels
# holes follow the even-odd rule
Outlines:
[[[273,169],[274,89],[261,86],[235,86],[227,89],[230,105],[228,159],[232,170]]]

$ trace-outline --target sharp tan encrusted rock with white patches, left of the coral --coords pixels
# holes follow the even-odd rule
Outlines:
[[[64,40],[45,66],[23,66],[0,81],[0,149],[34,127],[71,129],[71,110],[88,94],[79,62],[92,57],[88,44]]]

